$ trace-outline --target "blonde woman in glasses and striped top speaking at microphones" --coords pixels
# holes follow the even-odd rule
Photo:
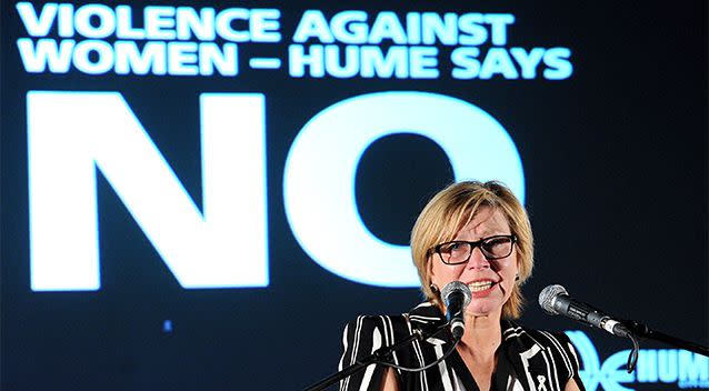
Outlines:
[[[391,345],[413,330],[446,322],[440,289],[466,283],[472,300],[466,332],[438,365],[408,372],[370,365],[340,390],[580,390],[576,351],[563,333],[523,329],[511,320],[522,305],[520,285],[531,274],[532,233],[527,212],[499,182],[455,183],[423,208],[411,234],[411,252],[427,301],[398,317],[359,317],[344,329],[340,369]],[[450,333],[397,350],[392,361],[421,368],[452,343]]]

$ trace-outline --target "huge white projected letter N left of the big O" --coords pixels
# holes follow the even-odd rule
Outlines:
[[[32,290],[100,288],[96,169],[182,287],[268,285],[263,99],[200,97],[200,212],[121,94],[30,91]]]

